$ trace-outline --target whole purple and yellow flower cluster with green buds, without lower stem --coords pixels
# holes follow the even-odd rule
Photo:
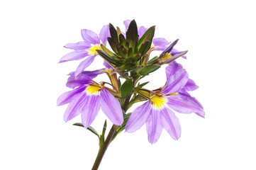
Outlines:
[[[74,51],[63,56],[60,62],[87,58],[69,74],[67,87],[72,90],[57,99],[58,106],[69,104],[64,120],[67,122],[81,115],[81,125],[90,128],[101,108],[116,126],[112,140],[122,130],[135,132],[144,124],[150,143],[157,142],[162,129],[167,130],[174,140],[178,140],[181,127],[174,111],[196,113],[204,118],[203,107],[188,93],[198,86],[189,79],[182,65],[175,61],[179,57],[186,58],[184,55],[187,51],[174,49],[178,40],[171,43],[165,38],[154,38],[155,26],[138,27],[134,20],[123,23],[126,27],[125,33],[110,23],[101,28],[99,36],[92,30],[84,29],[81,31],[82,41],[65,45]],[[160,55],[150,58],[150,53],[154,50],[160,51]],[[96,56],[104,60],[103,68],[84,71],[94,62]],[[148,84],[140,82],[143,77],[155,72],[164,64],[167,64],[166,84],[154,90],[143,88]],[[99,74],[106,74],[109,82],[94,81]],[[111,87],[105,86],[106,84]],[[139,102],[143,104],[132,113],[126,113],[134,103]],[[96,130],[94,133],[97,134]]]

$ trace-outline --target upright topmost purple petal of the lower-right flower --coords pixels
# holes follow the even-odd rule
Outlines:
[[[172,62],[165,69],[167,75],[167,84],[165,89],[162,90],[163,94],[174,94],[181,90],[189,79],[185,69],[182,69],[182,64]]]

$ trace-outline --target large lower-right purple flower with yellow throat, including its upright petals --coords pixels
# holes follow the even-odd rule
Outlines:
[[[196,113],[203,118],[205,115],[199,101],[187,92],[197,89],[198,86],[189,79],[182,65],[172,62],[166,68],[166,75],[165,86],[153,91],[149,101],[136,108],[126,124],[126,132],[135,132],[146,123],[150,143],[157,142],[163,128],[174,140],[179,139],[179,120],[170,108],[179,113]]]

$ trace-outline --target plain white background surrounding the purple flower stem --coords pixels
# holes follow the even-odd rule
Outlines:
[[[151,145],[145,126],[121,133],[99,169],[256,169],[255,16],[253,1],[1,1],[0,169],[91,169],[96,136],[72,125],[79,117],[65,123],[66,106],[56,106],[79,61],[57,62],[71,51],[63,45],[82,40],[82,28],[124,29],[133,18],[189,50],[177,61],[199,85],[191,94],[206,118],[177,113],[178,141],[164,130]],[[97,57],[88,69],[101,63]],[[164,68],[147,88],[165,84]],[[94,128],[105,118],[100,112]]]

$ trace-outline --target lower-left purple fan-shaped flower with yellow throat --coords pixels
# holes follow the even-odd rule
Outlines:
[[[72,88],[78,87],[57,99],[58,106],[69,103],[64,114],[66,122],[81,113],[82,124],[84,128],[88,128],[101,108],[113,124],[123,123],[123,111],[119,101],[104,86],[92,81],[90,74],[84,74],[77,80],[74,79],[74,74],[71,74],[67,84]]]

